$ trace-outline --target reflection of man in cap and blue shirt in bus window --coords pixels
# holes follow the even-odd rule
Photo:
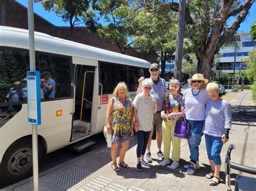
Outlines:
[[[41,83],[44,86],[44,98],[54,98],[56,82],[51,78],[51,74],[49,72],[43,72],[41,76]]]

